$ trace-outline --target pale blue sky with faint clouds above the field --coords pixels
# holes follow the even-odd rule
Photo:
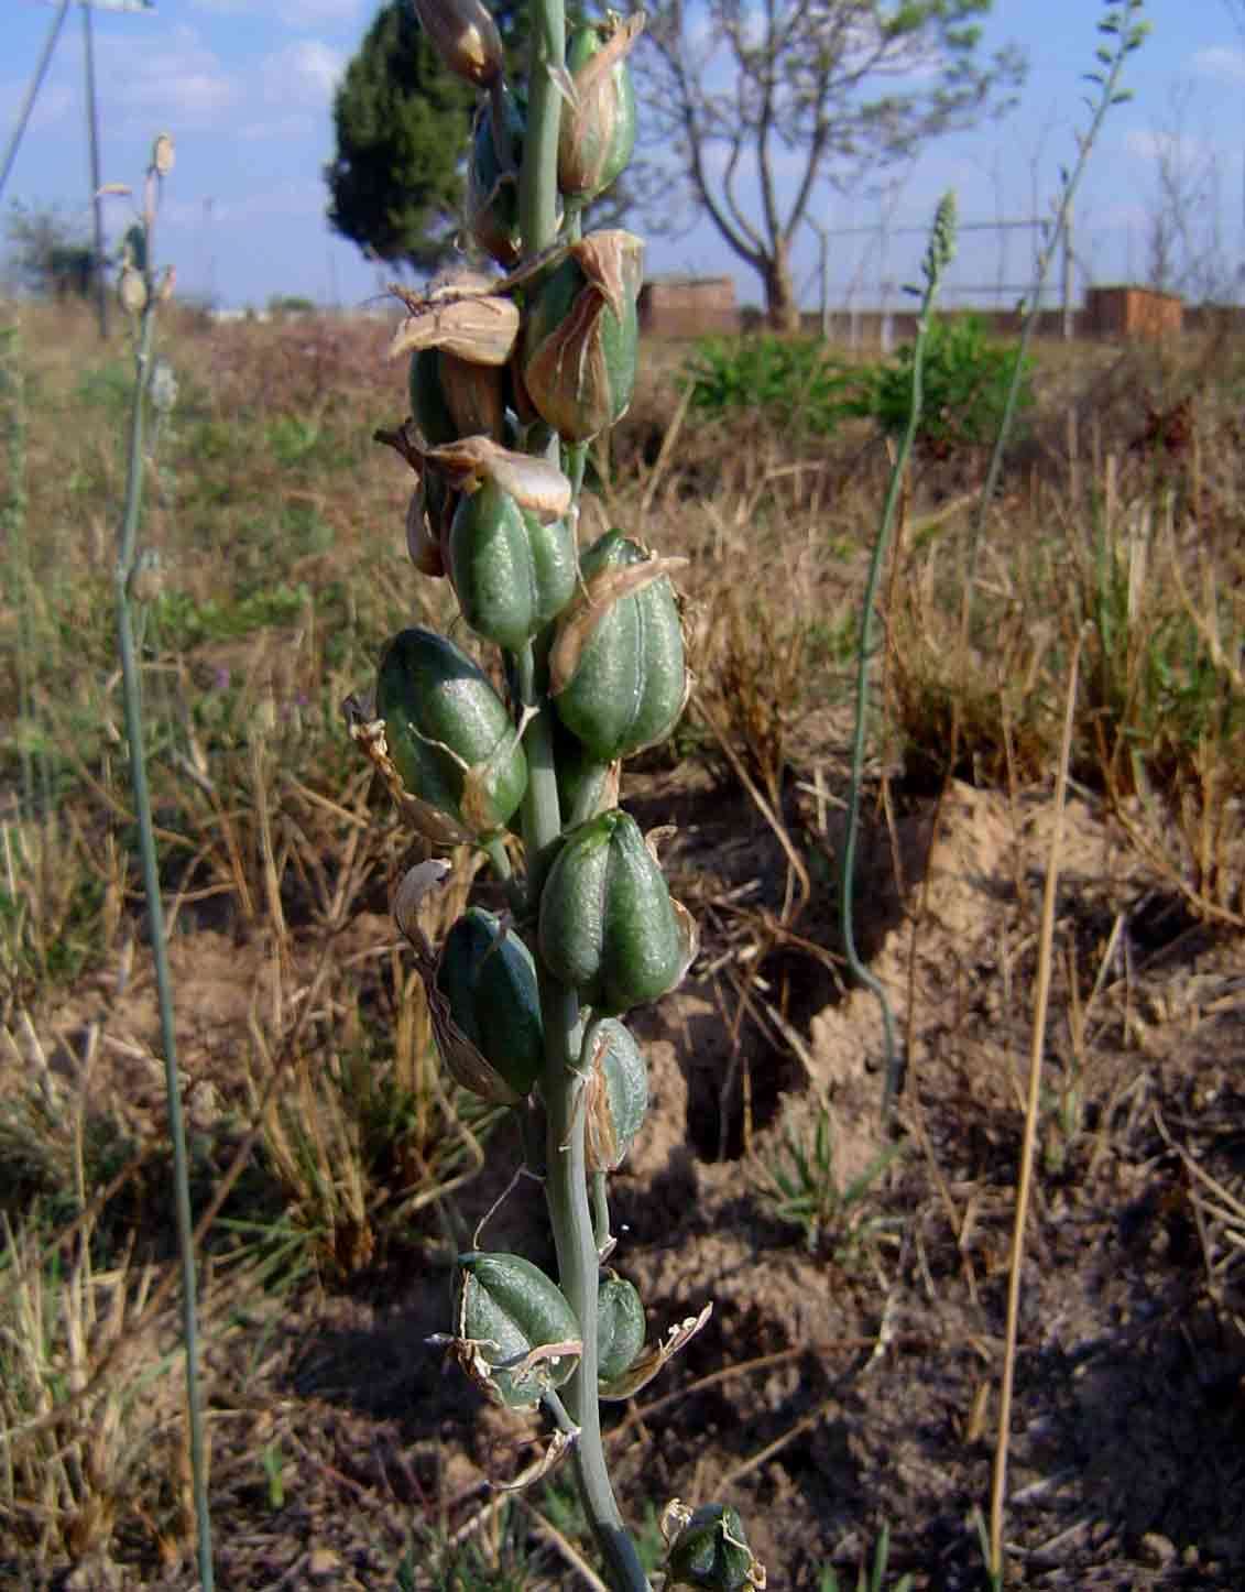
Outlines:
[[[1218,223],[1232,263],[1245,259],[1245,35],[1234,24],[1240,0],[1149,0],[1148,43],[1132,57],[1135,99],[1113,113],[1078,207],[1081,280],[1138,279],[1146,261],[1156,148],[1183,96],[1188,158],[1218,169]],[[3,196],[60,202],[86,212],[81,18],[76,3]],[[373,0],[156,0],[146,14],[96,11],[96,72],[102,121],[102,177],[135,181],[151,137],[177,140],[158,256],[175,261],[188,295],[223,304],[263,304],[274,293],[320,302],[357,302],[377,291],[374,266],[330,232],[322,167],[333,154],[333,84],[358,46]],[[841,236],[831,245],[831,298],[877,302],[882,279],[915,275],[920,239],[898,229],[925,223],[938,194],[955,188],[960,215],[992,221],[1040,213],[1049,205],[1060,164],[1075,159],[1084,123],[1079,75],[1092,64],[1097,0],[997,0],[987,40],[1014,40],[1030,73],[1019,108],[1003,123],[939,140],[906,174],[892,197],[885,261],[877,236]],[[8,137],[56,10],[40,0],[6,0],[0,57],[0,140]],[[124,229],[124,201],[108,201],[113,236]],[[877,199],[826,194],[823,226],[874,224]],[[1205,224],[1205,210],[1200,224]],[[973,285],[1024,282],[1032,245],[1014,232],[965,234],[952,275],[962,296]],[[796,277],[806,302],[817,301],[818,245],[806,231]],[[678,240],[650,245],[650,271],[732,272],[740,302],[759,299],[759,283],[704,223]],[[857,283],[855,290],[852,283]],[[1006,296],[1006,295],[1005,295]],[[1014,298],[1014,295],[1013,295]]]

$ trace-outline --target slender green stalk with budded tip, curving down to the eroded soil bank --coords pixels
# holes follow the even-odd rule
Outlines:
[[[935,220],[935,234],[927,253],[925,293],[920,301],[917,317],[917,336],[912,347],[912,392],[907,406],[907,425],[904,427],[900,449],[890,471],[887,498],[882,508],[882,522],[877,527],[872,557],[869,559],[869,575],[864,583],[864,597],[860,616],[860,643],[857,646],[857,691],[855,691],[855,726],[852,732],[852,780],[847,793],[847,833],[844,834],[842,863],[839,874],[839,931],[842,935],[844,954],[852,976],[877,997],[882,1009],[882,1040],[885,1046],[885,1083],[882,1086],[882,1121],[888,1121],[895,1110],[895,1100],[903,1089],[906,1059],[895,1043],[895,1014],[890,998],[880,981],[864,966],[857,950],[853,906],[855,906],[855,872],[857,872],[857,836],[860,833],[860,786],[864,777],[864,745],[869,723],[869,667],[872,664],[874,605],[877,602],[877,586],[882,578],[882,565],[890,541],[890,532],[900,508],[907,460],[920,423],[923,404],[923,369],[925,342],[930,334],[930,315],[938,298],[938,283],[949,259],[949,228],[954,224],[949,209],[949,197],[939,205]]]

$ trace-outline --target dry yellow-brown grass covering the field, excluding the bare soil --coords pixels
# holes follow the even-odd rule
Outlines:
[[[0,1506],[48,1565],[124,1557],[134,1541],[135,1562],[153,1565],[181,1551],[186,1520],[167,1216],[151,1219],[158,1041],[116,766],[110,538],[126,369],[118,347],[97,350],[89,317],[62,318],[56,336],[41,317],[22,310],[35,650],[21,721],[8,568],[0,610],[14,748],[0,771]],[[409,478],[369,441],[401,416],[384,341],[373,323],[191,318],[167,338],[181,400],[146,521],[162,592],[148,608],[145,685],[199,1208],[212,1218],[199,1234],[217,1267],[210,1339],[239,1312],[263,1313],[282,1280],[302,1288],[314,1272],[341,1290],[387,1256],[455,1242],[455,1196],[490,1126],[433,1067],[419,981],[387,925],[417,852],[338,716],[387,634],[451,611],[443,587],[409,572]],[[763,422],[747,446],[721,422],[693,422],[673,379],[680,353],[648,361],[584,535],[619,524],[693,559],[701,713],[673,756],[708,764],[718,790],[742,785],[775,837],[785,885],[761,880],[745,901],[724,879],[710,906],[736,936],[726,1049],[756,1017],[777,1052],[799,1033],[763,966],[806,933],[810,955],[834,952],[829,914],[801,915],[825,868],[798,820],[809,788],[818,807],[842,794],[887,458],[860,428],[793,457]],[[968,656],[958,603],[982,462],[930,463],[911,486],[882,613],[877,812],[903,818],[947,774],[1011,798],[1049,783],[1083,635],[1075,788],[1105,804],[1192,920],[1239,930],[1245,352],[1223,339],[1040,349],[1038,390],[1032,435],[990,506]],[[1186,400],[1185,441],[1146,439],[1153,416]],[[33,810],[19,801],[18,747],[35,771]],[[444,922],[471,884],[459,861]],[[441,927],[427,925],[433,939]],[[1105,965],[1094,962],[1089,1005]],[[1064,982],[1079,989],[1084,974],[1068,963]],[[89,1089],[88,1075],[107,1087]],[[1099,1138],[1114,1121],[1108,1111]],[[127,1172],[132,1161],[145,1170]],[[1210,1285],[1239,1317],[1239,1194],[1191,1178]],[[971,1204],[950,1184],[947,1199]],[[67,1237],[83,1208],[91,1221]]]

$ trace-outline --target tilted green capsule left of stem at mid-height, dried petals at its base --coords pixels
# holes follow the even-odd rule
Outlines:
[[[466,834],[503,828],[527,788],[527,758],[486,673],[422,627],[393,637],[376,680],[388,758],[409,796]]]

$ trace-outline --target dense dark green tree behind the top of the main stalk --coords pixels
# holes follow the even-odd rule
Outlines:
[[[379,259],[436,269],[454,250],[474,103],[414,10],[387,0],[333,100],[330,224]]]

